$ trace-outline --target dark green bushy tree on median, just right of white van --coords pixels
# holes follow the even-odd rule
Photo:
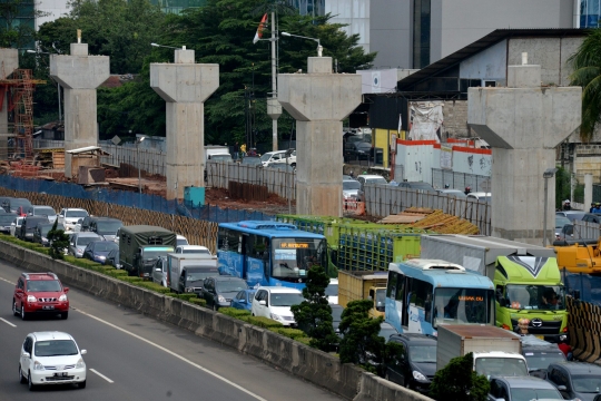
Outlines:
[[[294,320],[311,338],[309,345],[326,352],[338,341],[332,326],[332,307],[325,295],[328,284],[329,277],[324,268],[313,265],[307,272],[306,286],[303,288],[305,301],[290,307]]]

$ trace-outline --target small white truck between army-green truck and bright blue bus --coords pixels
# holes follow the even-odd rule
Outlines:
[[[218,276],[217,256],[210,254],[167,255],[167,282],[176,293],[203,292],[203,282],[207,277]]]

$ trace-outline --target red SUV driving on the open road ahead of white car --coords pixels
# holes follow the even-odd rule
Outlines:
[[[12,295],[12,313],[22,320],[32,314],[55,314],[65,320],[69,317],[68,292],[55,273],[21,273]]]

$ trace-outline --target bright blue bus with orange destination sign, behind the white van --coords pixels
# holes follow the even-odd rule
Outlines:
[[[327,243],[319,234],[278,222],[221,223],[217,233],[219,272],[250,287],[283,285],[303,290],[309,267],[327,272]]]

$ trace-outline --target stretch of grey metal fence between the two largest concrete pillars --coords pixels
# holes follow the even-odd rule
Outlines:
[[[365,185],[364,193],[365,212],[372,216],[386,217],[407,207],[428,207],[469,221],[479,227],[481,234],[491,234],[491,205],[485,202],[390,185]]]

